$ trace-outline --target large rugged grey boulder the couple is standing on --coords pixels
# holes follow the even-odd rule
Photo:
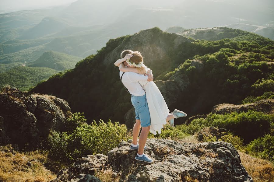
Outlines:
[[[148,139],[145,154],[154,160],[150,164],[134,159],[137,151],[129,149],[131,142],[121,142],[107,155],[78,158],[53,181],[69,181],[81,173],[94,175],[106,166],[111,166],[113,176],[122,181],[253,181],[241,164],[237,150],[227,142],[194,144]]]

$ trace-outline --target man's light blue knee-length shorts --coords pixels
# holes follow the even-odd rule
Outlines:
[[[150,114],[146,101],[146,94],[143,96],[131,95],[131,103],[135,109],[135,118],[141,121],[141,126],[150,126]]]

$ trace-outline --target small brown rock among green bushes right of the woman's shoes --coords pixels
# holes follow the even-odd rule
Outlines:
[[[206,137],[216,137],[216,140],[220,139],[222,136],[227,135],[227,130],[224,128],[215,128],[214,126],[205,127],[198,133],[196,133],[198,141],[201,142]]]

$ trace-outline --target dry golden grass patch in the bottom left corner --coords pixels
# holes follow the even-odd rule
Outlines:
[[[1,182],[48,182],[56,178],[40,161],[31,161],[39,156],[12,151],[11,145],[1,147],[0,151]],[[31,166],[27,165],[28,161]]]

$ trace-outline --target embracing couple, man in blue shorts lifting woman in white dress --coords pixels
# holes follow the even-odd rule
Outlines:
[[[169,113],[160,90],[153,82],[152,70],[144,65],[142,54],[139,51],[123,51],[121,59],[118,59],[114,65],[120,69],[121,82],[131,94],[131,102],[135,109],[136,123],[132,130],[130,149],[138,149],[136,160],[152,163],[153,160],[144,154],[149,131],[154,135],[156,131],[160,134],[164,124],[169,122],[173,127],[174,118],[184,117],[187,114],[177,109]],[[141,127],[138,144],[137,139]]]

